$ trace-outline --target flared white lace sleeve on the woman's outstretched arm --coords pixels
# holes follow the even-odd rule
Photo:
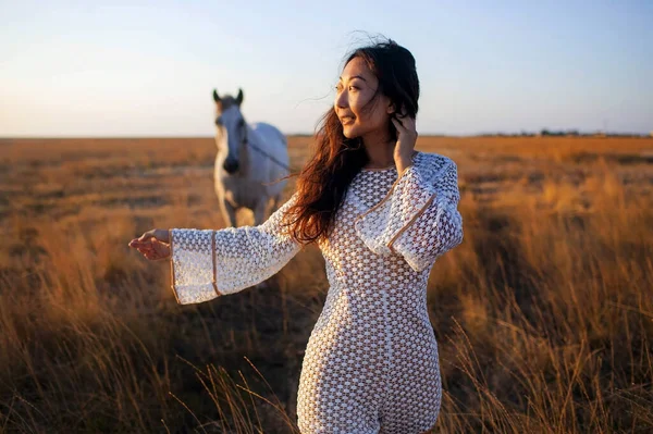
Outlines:
[[[300,249],[282,227],[293,196],[258,226],[173,228],[172,289],[182,305],[237,293],[275,274]]]

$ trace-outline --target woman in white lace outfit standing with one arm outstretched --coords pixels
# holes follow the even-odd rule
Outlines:
[[[354,51],[317,152],[259,226],[152,230],[130,243],[171,260],[180,303],[234,294],[317,243],[330,283],[297,397],[308,433],[411,434],[438,418],[438,344],[427,310],[435,259],[463,240],[456,164],[415,151],[419,80],[394,41]]]

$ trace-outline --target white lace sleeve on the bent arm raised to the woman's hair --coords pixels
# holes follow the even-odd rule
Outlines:
[[[398,253],[421,272],[463,241],[459,200],[453,160],[440,157],[428,169],[414,164],[383,200],[356,219],[356,233],[373,252]]]

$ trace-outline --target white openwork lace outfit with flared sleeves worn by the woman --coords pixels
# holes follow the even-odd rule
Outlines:
[[[362,170],[329,240],[329,293],[306,348],[297,396],[301,433],[412,434],[438,418],[438,344],[427,310],[429,272],[463,240],[456,164],[417,152]],[[172,287],[194,303],[252,286],[299,250],[280,222],[295,196],[259,226],[171,230]]]

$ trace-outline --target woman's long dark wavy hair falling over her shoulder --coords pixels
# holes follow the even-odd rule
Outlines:
[[[419,79],[410,51],[389,39],[354,50],[345,65],[355,58],[364,60],[379,79],[377,91],[364,110],[371,109],[379,96],[385,95],[395,110],[415,117]],[[389,133],[393,139],[397,138],[392,122]],[[321,117],[315,142],[316,152],[298,174],[296,201],[285,220],[289,235],[303,244],[329,236],[349,184],[369,161],[360,137],[344,136],[333,106]]]

